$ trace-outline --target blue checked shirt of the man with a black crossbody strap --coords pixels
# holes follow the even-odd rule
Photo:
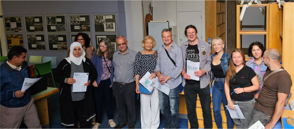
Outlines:
[[[162,75],[170,77],[171,79],[169,79],[166,83],[170,86],[171,89],[174,89],[182,82],[181,72],[183,71],[183,58],[181,47],[173,42],[171,48],[168,50],[168,54],[171,59],[175,61],[176,66],[168,58],[164,49],[166,49],[165,44],[158,48],[157,64],[154,72],[156,73],[158,70],[160,70]]]

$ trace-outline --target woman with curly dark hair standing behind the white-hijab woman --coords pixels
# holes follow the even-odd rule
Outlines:
[[[79,32],[74,38],[74,42],[81,43],[84,51],[86,52],[85,57],[91,60],[92,55],[95,52],[95,48],[93,47],[93,44],[90,44],[91,42],[90,37],[86,33]],[[69,53],[70,53],[70,50],[67,54],[67,57],[69,57]]]

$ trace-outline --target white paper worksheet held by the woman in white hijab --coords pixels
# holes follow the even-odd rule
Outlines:
[[[76,82],[73,84],[73,92],[86,92],[87,86],[84,86],[88,82],[89,73],[74,73],[74,79]]]

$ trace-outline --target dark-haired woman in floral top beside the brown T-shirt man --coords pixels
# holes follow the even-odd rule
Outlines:
[[[263,86],[263,75],[265,74],[266,67],[264,65],[263,61],[263,53],[265,51],[265,48],[263,47],[263,44],[260,42],[253,42],[250,44],[248,48],[248,56],[253,57],[249,61],[246,62],[246,65],[251,67],[255,73],[257,74],[257,78],[259,80],[259,89],[255,91],[254,98],[257,99],[259,92]]]

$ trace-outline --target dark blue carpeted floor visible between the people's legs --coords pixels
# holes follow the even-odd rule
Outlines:
[[[59,84],[56,83],[56,87],[59,88]],[[59,94],[54,94],[47,98],[48,102],[48,112],[49,112],[49,123],[50,123],[50,129],[65,129],[65,126],[61,127],[60,123],[60,109],[59,109]],[[114,112],[113,112],[113,121],[118,122],[118,111],[116,109],[115,100],[113,100],[114,105]],[[106,116],[105,107],[103,107],[102,110],[102,122],[99,126],[100,129],[110,129],[111,127],[108,126],[108,119]],[[136,123],[135,128],[140,129],[141,128],[141,116],[140,116],[140,98],[139,100],[136,99]],[[91,121],[88,124],[88,128],[92,129],[93,125],[91,125]],[[162,118],[162,114],[160,115],[160,125],[159,129],[162,129],[164,127],[164,121]],[[123,129],[127,129],[128,126],[124,127]],[[187,129],[188,128],[188,119],[182,119],[179,118],[178,120],[178,129]]]

